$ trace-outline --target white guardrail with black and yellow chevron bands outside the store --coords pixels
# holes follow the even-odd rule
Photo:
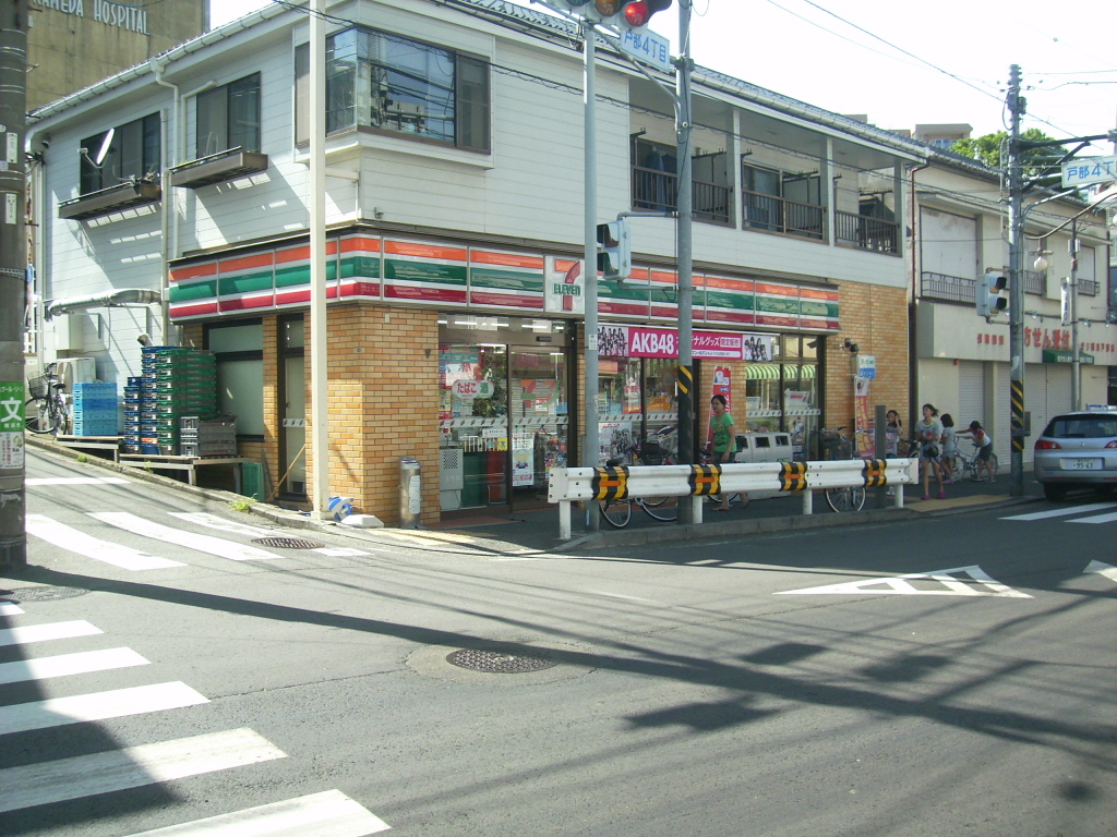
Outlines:
[[[904,508],[904,485],[917,480],[915,459],[850,459],[818,462],[744,462],[725,465],[618,465],[555,468],[547,479],[547,501],[558,503],[558,537],[570,540],[575,502],[639,497],[690,498],[696,523],[703,498],[723,491],[801,492],[803,513],[813,512],[813,492],[832,488],[897,488],[894,504]],[[682,506],[685,501],[680,501]],[[594,510],[596,511],[596,510]]]

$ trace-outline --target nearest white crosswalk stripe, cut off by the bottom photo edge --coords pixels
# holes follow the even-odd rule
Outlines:
[[[340,790],[327,790],[130,837],[364,837],[388,828]]]

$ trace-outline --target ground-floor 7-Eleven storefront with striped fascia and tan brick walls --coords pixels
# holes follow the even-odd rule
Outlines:
[[[264,463],[265,499],[295,506],[308,500],[313,466],[304,242],[181,260],[170,289],[185,341],[218,355],[221,407],[238,416],[241,454]],[[399,462],[413,456],[426,523],[543,502],[547,469],[580,461],[581,263],[365,230],[332,235],[327,258],[331,494],[392,526]],[[793,346],[795,405],[818,414],[818,393],[803,406],[799,355],[837,333],[838,290],[713,275],[694,283],[699,403],[727,376],[746,426],[750,365],[771,369]],[[667,270],[599,282],[599,412],[612,446],[675,424],[676,298]],[[779,403],[765,401],[768,424]]]

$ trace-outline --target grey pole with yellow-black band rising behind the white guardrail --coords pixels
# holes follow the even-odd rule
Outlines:
[[[678,100],[676,138],[678,140],[679,193],[676,198],[676,229],[679,271],[679,367],[678,367],[678,458],[689,465],[695,456],[695,375],[694,375],[694,170],[690,154],[690,0],[679,2],[679,59],[676,62]],[[691,523],[694,509],[680,503],[679,522]]]

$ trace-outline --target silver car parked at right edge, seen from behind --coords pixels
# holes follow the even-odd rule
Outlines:
[[[1035,440],[1033,469],[1048,500],[1062,500],[1072,488],[1113,492],[1117,485],[1117,412],[1057,415]]]

